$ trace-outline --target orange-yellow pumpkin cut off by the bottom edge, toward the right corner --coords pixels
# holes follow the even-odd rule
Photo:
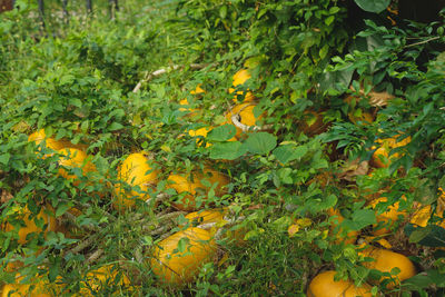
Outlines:
[[[362,287],[356,287],[349,280],[334,280],[336,271],[327,270],[318,274],[310,281],[306,295],[308,297],[370,297],[370,286],[364,284]]]

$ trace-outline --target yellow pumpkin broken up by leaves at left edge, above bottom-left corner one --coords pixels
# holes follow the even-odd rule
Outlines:
[[[18,216],[19,219],[23,220],[24,227],[19,228],[19,239],[18,242],[20,245],[24,245],[27,242],[27,236],[32,232],[44,232],[48,231],[57,231],[57,220],[55,216],[48,215],[47,211],[53,212],[53,209],[50,206],[42,207],[40,212],[37,215],[38,219],[42,219],[44,221],[46,229],[41,229],[36,226],[34,218],[30,218],[31,211],[28,208],[21,207],[12,207],[12,212]],[[14,230],[14,226],[7,222],[3,227],[4,231],[12,231]]]

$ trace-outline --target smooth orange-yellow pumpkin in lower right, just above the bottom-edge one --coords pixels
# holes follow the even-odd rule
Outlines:
[[[396,285],[399,285],[400,281],[416,275],[416,267],[414,264],[402,254],[375,247],[368,247],[360,254],[374,259],[373,261],[364,263],[364,266],[369,269],[390,273],[390,270],[397,267],[400,270],[396,276],[392,277],[393,281],[387,285],[387,288],[394,288]],[[386,277],[383,277],[380,281],[384,279],[386,279]]]

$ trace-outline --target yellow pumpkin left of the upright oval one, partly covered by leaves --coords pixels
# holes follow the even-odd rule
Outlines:
[[[86,176],[88,172],[96,171],[96,166],[87,160],[88,156],[83,150],[77,148],[65,148],[58,151],[60,156],[59,165],[63,167],[81,168],[82,175]],[[59,175],[66,179],[72,179],[73,185],[78,186],[80,180],[76,175],[70,175],[65,168],[59,168]]]

